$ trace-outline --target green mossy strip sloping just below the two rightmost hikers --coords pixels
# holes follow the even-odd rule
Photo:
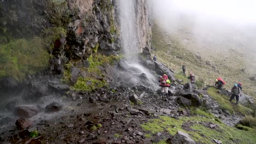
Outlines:
[[[237,112],[244,116],[253,113],[252,109],[249,109],[248,107],[245,107],[243,105],[232,105],[229,101],[229,97],[218,94],[218,89],[214,87],[208,88],[207,92],[209,95],[211,95],[211,97],[213,97],[214,100],[216,100],[220,104],[219,107],[222,110],[228,110],[231,113]]]

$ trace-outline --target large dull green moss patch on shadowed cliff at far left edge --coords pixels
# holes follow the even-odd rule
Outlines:
[[[0,77],[22,80],[26,74],[47,68],[49,54],[44,49],[42,38],[14,39],[0,45],[0,61]]]

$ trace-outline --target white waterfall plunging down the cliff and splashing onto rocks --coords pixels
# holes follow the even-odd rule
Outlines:
[[[142,47],[139,47],[139,28],[136,24],[136,17],[138,15],[136,0],[119,0],[119,20],[120,20],[120,34],[122,38],[122,46],[124,56],[127,61],[127,68],[137,69],[136,72],[147,75],[151,86],[155,86],[156,76],[147,68],[144,68],[138,62],[138,53]]]

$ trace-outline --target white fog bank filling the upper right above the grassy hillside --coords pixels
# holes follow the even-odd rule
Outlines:
[[[155,23],[170,34],[193,39],[207,57],[209,50],[237,50],[256,68],[256,1],[252,0],[150,0]],[[192,41],[192,40],[191,40]],[[191,43],[190,41],[190,43]]]

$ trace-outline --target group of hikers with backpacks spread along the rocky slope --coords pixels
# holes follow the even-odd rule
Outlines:
[[[154,61],[156,61],[156,56],[154,56],[153,59],[154,59]],[[186,76],[186,67],[185,67],[185,65],[182,65],[182,72],[183,72],[183,75]],[[191,83],[195,83],[195,75],[193,73],[189,74],[188,79],[190,79]],[[161,87],[162,97],[164,97],[164,93],[166,93],[167,97],[170,96],[168,94],[168,87],[171,87],[171,81],[168,79],[168,76],[166,74],[162,75],[159,82],[160,82],[159,86]],[[216,87],[217,89],[222,89],[223,85],[225,85],[225,81],[221,77],[218,77],[215,80],[214,87]],[[232,95],[230,96],[229,101],[231,102],[232,99],[236,98],[236,104],[238,104],[239,97],[242,96],[241,91],[242,91],[242,83],[238,82],[231,89],[231,94]]]

